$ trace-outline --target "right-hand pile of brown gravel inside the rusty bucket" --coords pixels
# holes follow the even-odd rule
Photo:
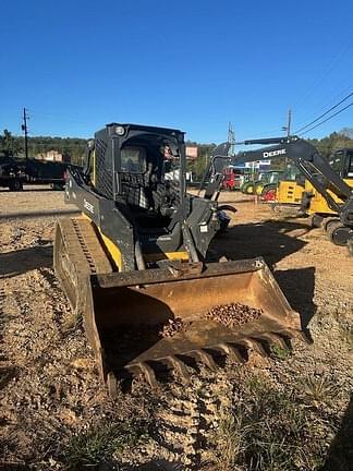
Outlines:
[[[230,303],[214,306],[205,315],[207,319],[216,321],[226,327],[238,327],[256,321],[264,314],[263,310],[246,304]]]

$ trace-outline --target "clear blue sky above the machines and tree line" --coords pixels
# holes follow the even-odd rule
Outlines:
[[[351,0],[1,0],[0,17],[0,130],[14,134],[25,106],[32,135],[111,121],[279,135],[289,108],[295,131],[353,90]],[[343,126],[353,107],[308,136]]]

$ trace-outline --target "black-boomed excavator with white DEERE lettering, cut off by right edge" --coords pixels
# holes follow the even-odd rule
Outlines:
[[[327,233],[337,245],[346,245],[353,255],[353,192],[352,188],[308,142],[297,137],[273,137],[244,141],[244,145],[270,145],[256,150],[246,150],[233,164],[283,156],[290,158],[316,193],[320,194],[329,209],[337,215]],[[275,144],[275,145],[273,145]]]

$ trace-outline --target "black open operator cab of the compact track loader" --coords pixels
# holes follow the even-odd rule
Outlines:
[[[138,231],[172,230],[185,193],[184,133],[136,124],[109,124],[95,135],[89,179],[114,200]]]

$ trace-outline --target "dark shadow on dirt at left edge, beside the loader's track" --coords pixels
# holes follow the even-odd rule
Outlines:
[[[0,278],[11,278],[37,268],[52,267],[52,245],[36,245],[0,253]]]

